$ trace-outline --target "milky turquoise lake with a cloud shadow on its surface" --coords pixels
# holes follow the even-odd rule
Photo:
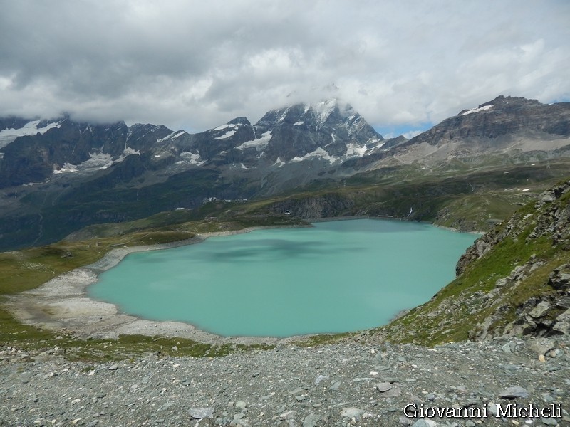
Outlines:
[[[257,230],[131,253],[88,295],[226,337],[363,330],[430,300],[475,238],[372,219]]]

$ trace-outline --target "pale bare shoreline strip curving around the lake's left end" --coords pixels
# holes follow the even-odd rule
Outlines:
[[[130,253],[162,251],[202,243],[210,237],[233,236],[255,230],[299,227],[304,226],[247,227],[241,230],[199,233],[190,239],[172,243],[114,248],[95,263],[58,275],[38,288],[11,295],[6,307],[17,320],[25,324],[71,332],[81,338],[118,339],[119,335],[136,334],[187,338],[205,344],[286,344],[311,335],[286,338],[222,337],[184,322],[144,320],[127,315],[114,304],[88,297],[87,288],[98,280],[100,273],[115,267]]]

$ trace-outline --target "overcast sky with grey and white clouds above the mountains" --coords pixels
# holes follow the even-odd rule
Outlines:
[[[0,0],[0,115],[198,132],[337,97],[383,135],[570,100],[570,1]]]

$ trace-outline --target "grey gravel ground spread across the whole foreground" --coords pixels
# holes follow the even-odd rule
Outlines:
[[[0,425],[570,426],[570,337],[435,348],[366,339],[114,364],[0,347]],[[422,404],[469,417],[423,419],[413,406],[405,416]],[[514,404],[551,413],[515,417]]]

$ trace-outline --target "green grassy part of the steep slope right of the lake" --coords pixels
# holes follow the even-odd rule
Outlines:
[[[393,342],[414,342],[433,345],[448,341],[468,339],[481,330],[482,324],[492,315],[490,330],[500,331],[515,318],[517,307],[530,297],[548,295],[554,290],[548,285],[549,274],[559,265],[570,262],[570,253],[561,244],[555,245],[551,236],[529,239],[538,216],[552,206],[565,206],[570,202],[570,193],[540,211],[534,203],[517,211],[510,221],[498,226],[502,231],[514,224],[520,228],[515,235],[500,241],[482,258],[473,262],[457,277],[424,305],[415,307],[407,315],[375,332]],[[509,225],[510,224],[510,225]],[[494,290],[499,278],[505,278],[518,265],[531,258],[541,261],[524,280],[514,287],[505,287],[499,297],[487,300],[485,295]]]

